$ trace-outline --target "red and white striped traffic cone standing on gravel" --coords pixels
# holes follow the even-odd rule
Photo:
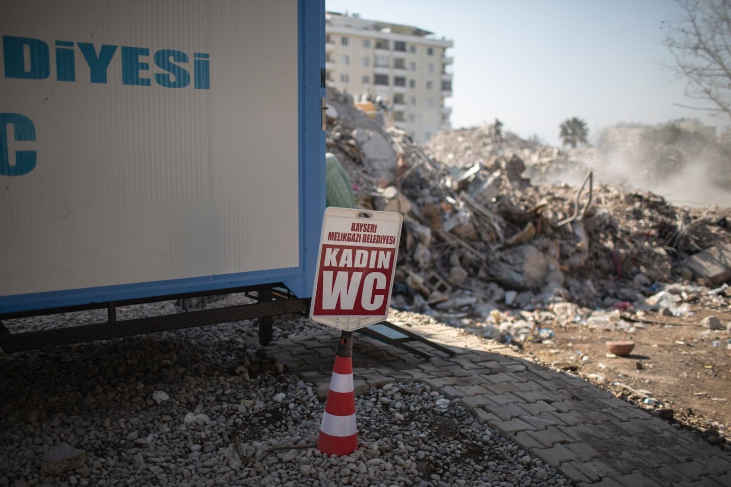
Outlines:
[[[358,449],[352,339],[352,331],[343,331],[340,335],[325,413],[322,414],[317,449],[327,456],[349,455]]]

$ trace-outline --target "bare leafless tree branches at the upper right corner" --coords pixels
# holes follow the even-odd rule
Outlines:
[[[715,107],[686,107],[731,118],[731,0],[676,0],[683,18],[664,23],[675,72],[686,78],[686,96]],[[678,105],[684,106],[684,105]]]

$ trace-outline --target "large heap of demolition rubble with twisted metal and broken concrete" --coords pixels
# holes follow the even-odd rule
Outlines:
[[[496,140],[493,126],[444,131],[421,147],[346,93],[330,88],[327,104],[327,151],[357,205],[404,215],[394,307],[524,340],[539,334],[534,312],[558,303],[613,310],[656,294],[657,283],[704,277],[685,259],[731,242],[727,210],[594,184],[556,147],[510,133]],[[577,185],[529,178],[571,172]]]

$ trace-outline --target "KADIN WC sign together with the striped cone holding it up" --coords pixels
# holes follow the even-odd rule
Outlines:
[[[310,318],[342,330],[317,439],[328,456],[358,448],[353,331],[388,317],[402,221],[400,213],[325,209]]]

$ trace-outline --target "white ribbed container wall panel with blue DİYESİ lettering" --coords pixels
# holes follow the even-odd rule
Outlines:
[[[0,296],[299,266],[299,5],[4,3]]]

